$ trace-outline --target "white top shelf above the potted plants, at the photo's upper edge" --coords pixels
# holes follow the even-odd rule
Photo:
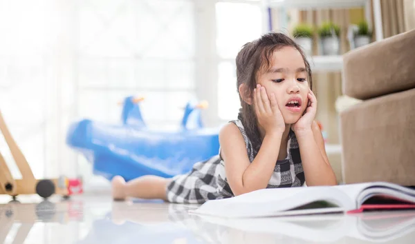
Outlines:
[[[354,8],[366,6],[368,0],[269,0],[270,8]]]

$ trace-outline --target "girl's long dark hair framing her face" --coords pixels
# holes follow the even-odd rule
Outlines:
[[[252,97],[252,92],[257,86],[257,75],[262,70],[268,70],[271,65],[271,57],[276,50],[283,47],[293,47],[298,50],[304,59],[306,66],[307,79],[310,87],[313,87],[313,81],[311,77],[310,64],[306,59],[306,55],[302,49],[295,43],[293,39],[282,33],[270,32],[264,34],[261,38],[251,41],[243,45],[241,51],[239,51],[236,63],[237,63],[237,90],[239,93],[239,86],[245,84],[243,89],[245,94],[239,94],[241,99],[241,110],[238,114],[238,119],[241,120],[246,134],[252,143],[254,153],[257,154],[259,147],[261,146],[261,138],[259,136],[259,130],[257,128],[257,117],[252,105],[249,105],[243,101],[243,97]]]

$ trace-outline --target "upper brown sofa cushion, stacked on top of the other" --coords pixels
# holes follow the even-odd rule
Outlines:
[[[343,92],[356,99],[415,88],[415,30],[347,52],[343,68]]]

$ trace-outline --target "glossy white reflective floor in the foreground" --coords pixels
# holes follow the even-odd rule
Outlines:
[[[196,206],[0,196],[0,243],[415,243],[415,211],[209,221]]]

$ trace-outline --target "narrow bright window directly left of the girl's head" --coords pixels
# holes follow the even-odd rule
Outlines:
[[[240,108],[235,58],[242,45],[262,34],[258,3],[216,3],[216,50],[218,63],[218,115],[235,119]]]

